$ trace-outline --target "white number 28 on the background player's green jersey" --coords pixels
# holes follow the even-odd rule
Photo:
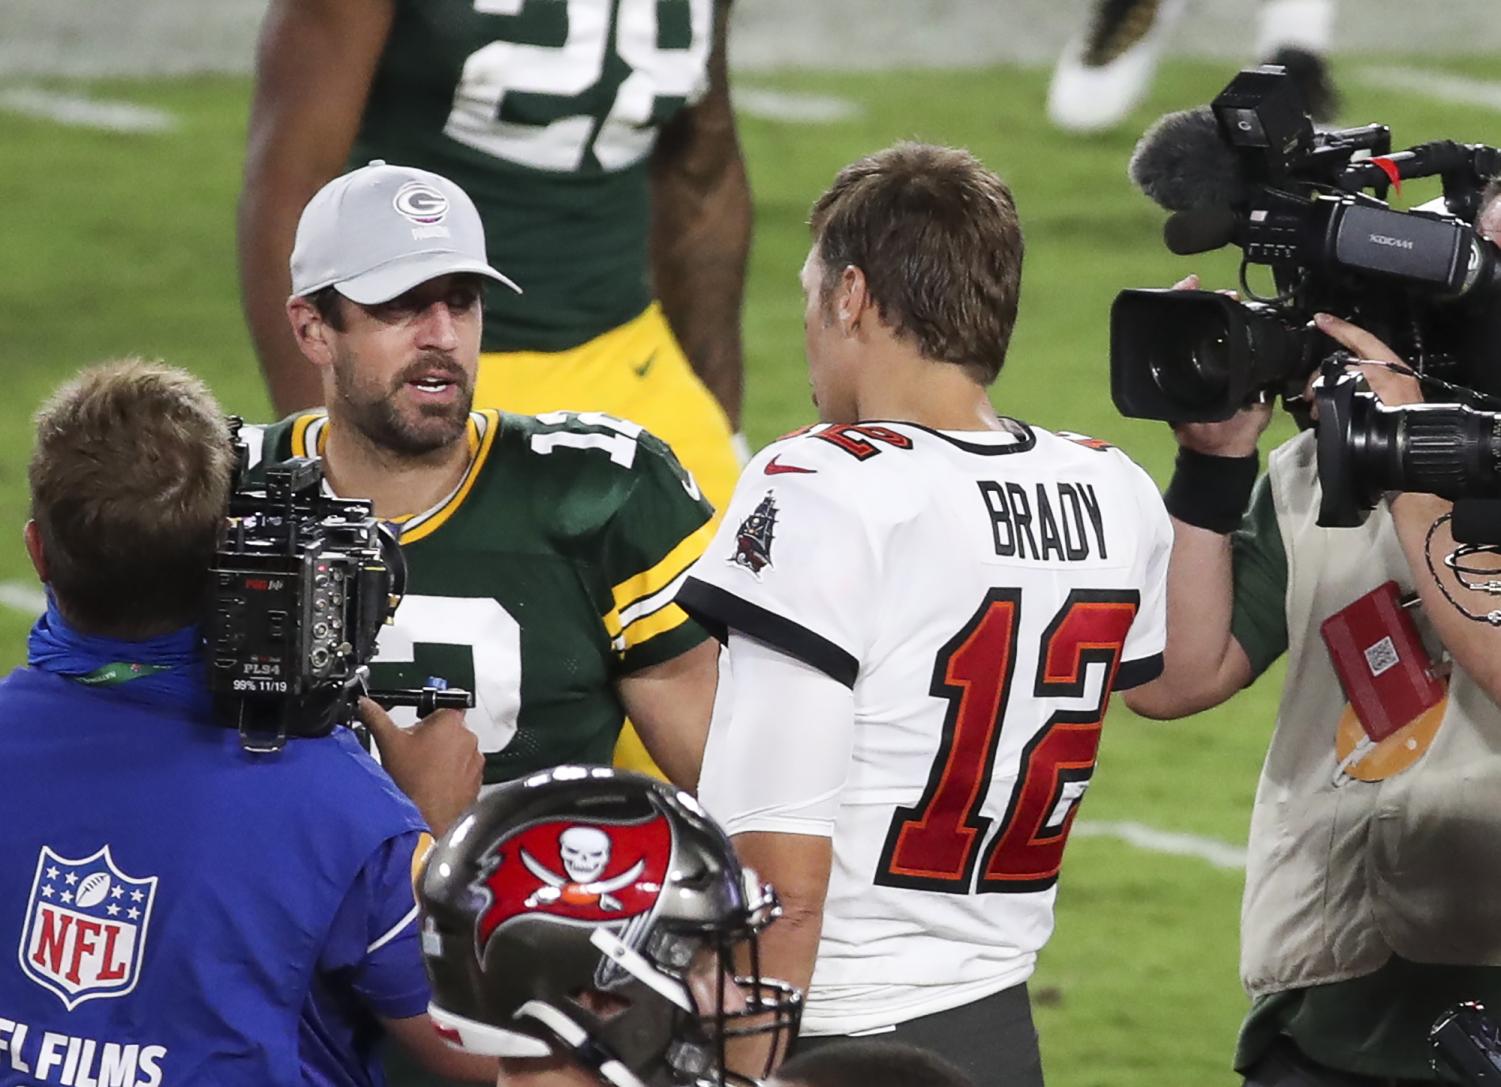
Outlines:
[[[528,2],[537,0],[474,0],[474,11],[519,15]],[[615,54],[630,66],[630,75],[620,86],[603,125],[590,114],[561,117],[548,125],[500,119],[506,95],[512,92],[573,98],[605,77],[609,0],[566,0],[567,41],[561,47],[491,42],[468,56],[444,134],[467,147],[533,170],[572,173],[584,164],[591,146],[605,170],[624,170],[639,162],[656,141],[651,125],[656,101],[681,98],[695,102],[708,86],[713,0],[686,0],[692,24],[692,41],[686,50],[657,45],[657,11],[669,2],[618,0]]]

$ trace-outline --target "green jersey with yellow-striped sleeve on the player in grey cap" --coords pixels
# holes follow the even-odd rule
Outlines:
[[[323,411],[267,426],[255,459],[317,455],[327,426]],[[435,676],[473,691],[486,782],[608,764],[615,680],[707,638],[672,598],[711,537],[710,506],[666,444],[611,416],[476,411],[470,447],[458,488],[398,525],[407,595],[372,686]]]

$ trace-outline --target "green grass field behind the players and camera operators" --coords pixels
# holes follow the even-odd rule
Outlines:
[[[1493,65],[1453,60],[1442,69],[1487,77]],[[1141,122],[1207,101],[1228,75],[1169,65]],[[1016,192],[1028,243],[1022,315],[995,402],[1045,426],[1109,438],[1166,479],[1166,428],[1124,420],[1109,402],[1109,302],[1123,287],[1169,285],[1190,270],[1229,285],[1234,263],[1228,254],[1192,264],[1171,257],[1159,242],[1162,213],[1124,176],[1132,135],[1075,141],[1052,132],[1045,80],[994,69],[754,81],[863,107],[860,119],[836,125],[747,119],[741,128],[758,209],[746,314],[754,441],[809,422],[796,279],[809,203],[844,162],[919,137],[971,147]],[[162,135],[111,135],[0,113],[0,357],[9,386],[0,411],[0,581],[33,580],[21,548],[30,414],[78,366],[123,353],[161,356],[203,374],[231,410],[267,414],[234,278],[248,84],[59,86],[159,107],[179,125]],[[1366,84],[1343,90],[1349,123],[1390,123],[1399,144],[1496,141],[1490,113],[1403,101]],[[1279,426],[1268,441],[1288,434]],[[0,608],[0,665],[23,661],[27,626],[29,617]],[[1241,842],[1279,679],[1276,670],[1231,706],[1178,724],[1117,707],[1082,818]],[[1052,1084],[1235,1082],[1240,889],[1238,872],[1202,860],[1114,838],[1072,844],[1057,935],[1033,982]]]

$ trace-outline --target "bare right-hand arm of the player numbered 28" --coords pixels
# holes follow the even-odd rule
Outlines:
[[[708,92],[665,128],[651,161],[651,272],[683,351],[738,431],[750,183],[729,105],[728,36],[723,0],[714,5]]]

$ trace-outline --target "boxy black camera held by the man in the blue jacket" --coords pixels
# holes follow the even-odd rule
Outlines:
[[[366,689],[375,637],[405,592],[401,547],[368,501],[323,492],[317,458],[270,464],[248,482],[240,426],[230,419],[237,467],[207,623],[221,724],[269,752],[350,724],[360,695],[422,715],[473,706],[458,689]]]

